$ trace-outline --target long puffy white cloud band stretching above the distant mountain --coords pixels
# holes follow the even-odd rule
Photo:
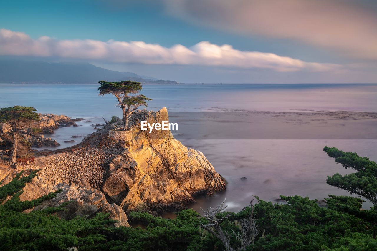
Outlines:
[[[22,32],[0,29],[0,55],[61,57],[100,60],[112,63],[220,66],[238,69],[267,68],[276,71],[327,71],[337,64],[308,63],[302,60],[255,51],[239,51],[228,44],[202,41],[192,47],[176,44],[170,48],[142,41],[33,39]]]

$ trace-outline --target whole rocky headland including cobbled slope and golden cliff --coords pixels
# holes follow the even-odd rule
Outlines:
[[[57,198],[36,209],[74,199],[67,206],[69,213],[61,213],[61,217],[105,211],[126,225],[126,210],[182,208],[182,203],[193,202],[197,193],[225,189],[222,177],[201,152],[182,145],[169,130],[141,131],[141,120],[153,123],[169,118],[166,108],[159,112],[135,112],[130,123],[132,140],[126,142],[108,137],[109,130],[122,124],[113,117],[111,123],[80,144],[17,165],[17,171],[41,169],[20,198],[35,199],[62,189]],[[0,178],[9,182],[17,171],[13,169],[7,174],[0,169]]]

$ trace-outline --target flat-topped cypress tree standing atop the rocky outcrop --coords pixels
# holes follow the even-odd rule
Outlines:
[[[104,80],[98,81],[100,87],[99,95],[112,94],[118,99],[116,106],[122,109],[123,113],[123,130],[128,130],[128,119],[131,117],[132,113],[139,106],[147,106],[147,102],[152,100],[144,95],[131,95],[136,94],[143,90],[140,82],[135,81],[118,81],[118,82],[107,82]]]

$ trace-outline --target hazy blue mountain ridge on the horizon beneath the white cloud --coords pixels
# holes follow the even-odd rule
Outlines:
[[[0,83],[96,83],[99,80],[132,80],[146,84],[177,84],[133,72],[107,70],[89,63],[0,60]]]

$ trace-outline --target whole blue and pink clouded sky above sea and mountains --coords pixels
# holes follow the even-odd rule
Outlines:
[[[284,6],[279,6],[277,0],[264,5],[262,2],[266,1],[3,1],[0,29],[8,32],[8,40],[0,38],[0,55],[44,61],[84,61],[107,69],[134,71],[182,82],[377,82],[374,73],[377,51],[373,48],[373,43],[377,44],[375,3],[360,1],[356,5],[348,0],[317,0],[313,2],[324,8],[316,9],[317,6],[308,5],[305,0],[298,1],[299,4],[297,0],[288,0]],[[257,12],[253,14],[252,11]],[[312,15],[312,12],[316,14]],[[355,18],[355,22],[349,18]],[[17,48],[9,38],[12,36],[18,41],[20,35],[17,38],[16,32],[28,36],[29,44]],[[316,36],[312,36],[313,33]],[[38,40],[44,36],[51,41]],[[353,41],[354,37],[359,39]],[[95,51],[97,54],[67,55],[64,50],[72,48],[60,46],[60,41],[81,41],[82,51],[83,46],[91,46],[85,44],[86,40],[104,43],[109,40],[142,41],[148,46],[158,44],[162,48],[158,51],[150,48],[146,54],[156,52],[158,56],[142,55],[143,59],[136,57],[141,52],[127,49],[120,54],[128,58],[131,53],[129,58],[132,59],[122,60],[98,50]],[[202,41],[209,43],[192,49]],[[51,45],[53,42],[55,45]],[[23,51],[22,48],[36,43],[41,43],[38,50],[34,46],[29,49],[34,50],[32,53]],[[176,44],[196,55],[191,56],[189,51],[181,56],[181,50],[169,50]],[[223,44],[232,46],[231,52],[225,48],[227,56],[224,56],[224,48],[213,47]],[[51,46],[48,52],[43,51],[45,46]],[[108,43],[95,46],[108,46],[110,49],[106,51],[119,48]],[[140,46],[137,46],[139,50]],[[53,51],[55,49],[60,51]],[[208,56],[207,52],[213,50],[221,52]],[[247,52],[276,54],[280,58],[271,63],[272,57],[268,58],[266,54],[263,55],[264,61],[257,62],[260,55]],[[248,58],[237,63],[239,55]],[[214,57],[212,61],[211,57]],[[288,66],[290,59],[283,57],[304,63]],[[282,61],[284,65],[277,67],[276,64]],[[267,65],[266,62],[270,63]],[[311,63],[322,65],[317,67]]]

